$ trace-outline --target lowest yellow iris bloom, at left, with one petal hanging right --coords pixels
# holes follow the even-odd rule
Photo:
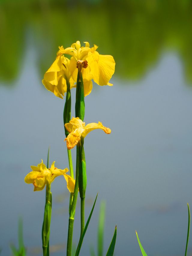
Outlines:
[[[63,175],[66,182],[67,188],[70,192],[74,192],[75,187],[75,180],[71,178],[71,176],[67,175],[68,169],[65,168],[64,170],[57,169],[55,167],[55,162],[52,163],[51,168],[47,169],[46,165],[41,160],[41,164],[38,166],[31,166],[32,172],[28,173],[25,177],[26,183],[33,183],[34,191],[40,191],[44,189],[46,184],[51,184],[55,177]]]

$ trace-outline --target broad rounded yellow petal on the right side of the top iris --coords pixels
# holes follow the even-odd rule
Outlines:
[[[93,80],[99,85],[107,85],[115,71],[115,61],[111,55],[100,55],[97,51],[89,52],[86,58],[91,67]]]

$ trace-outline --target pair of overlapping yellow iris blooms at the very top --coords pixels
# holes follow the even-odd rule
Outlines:
[[[109,80],[115,71],[115,61],[111,55],[99,54],[97,48],[97,45],[90,48],[88,42],[85,42],[85,47],[81,47],[79,41],[66,49],[63,46],[59,47],[55,61],[42,80],[46,89],[63,98],[62,95],[67,92],[67,84],[70,88],[76,87],[78,73],[76,64],[79,60],[86,60],[88,64],[86,68],[82,68],[85,96],[92,90],[92,80],[101,86],[112,86]],[[70,60],[65,57],[66,54],[71,56]]]

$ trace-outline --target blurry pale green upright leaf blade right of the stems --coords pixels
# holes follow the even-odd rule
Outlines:
[[[105,225],[105,202],[101,202],[99,225],[98,225],[98,256],[103,256],[103,236],[104,236],[104,225]]]

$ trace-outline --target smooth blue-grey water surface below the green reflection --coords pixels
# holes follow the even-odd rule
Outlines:
[[[33,48],[29,48],[14,86],[0,87],[1,109],[1,255],[17,245],[18,217],[23,218],[28,255],[41,255],[45,191],[33,191],[24,177],[41,158],[68,167],[61,100],[44,89]],[[118,65],[118,64],[117,64]],[[85,123],[101,121],[110,135],[92,131],[85,138],[87,164],[86,218],[98,200],[81,255],[96,251],[101,200],[106,201],[104,252],[117,224],[115,255],[141,255],[137,230],[148,255],[184,255],[187,203],[192,209],[192,89],[174,52],[162,53],[155,67],[137,82],[114,76],[113,87],[94,84],[85,98]],[[74,104],[75,89],[72,90]],[[74,115],[74,107],[72,110]],[[75,166],[75,149],[72,150]],[[68,197],[63,177],[52,183],[51,255],[64,255],[67,242]],[[79,239],[79,203],[74,242]],[[189,253],[192,252],[190,235]]]

